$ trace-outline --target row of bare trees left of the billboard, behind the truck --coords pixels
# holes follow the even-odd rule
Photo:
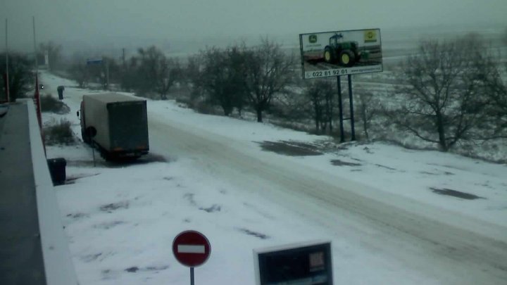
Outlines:
[[[188,58],[186,67],[177,58],[168,58],[155,46],[138,49],[123,66],[111,58],[110,74],[118,75],[120,86],[139,96],[160,96],[165,100],[175,84],[188,84],[194,97],[220,106],[224,115],[234,109],[239,113],[251,108],[258,122],[277,94],[292,84],[296,71],[294,56],[282,51],[279,44],[268,39],[259,46],[247,48],[236,44],[225,49],[209,47]],[[117,72],[111,70],[120,69]],[[70,74],[84,87],[94,78],[104,80],[104,64],[87,66],[80,61],[70,68]],[[114,78],[110,78],[115,81]]]

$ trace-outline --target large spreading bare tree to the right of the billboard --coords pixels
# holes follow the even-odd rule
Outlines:
[[[399,75],[401,108],[390,110],[392,120],[416,137],[448,151],[461,139],[480,136],[484,125],[484,72],[487,50],[471,35],[449,42],[422,42]]]

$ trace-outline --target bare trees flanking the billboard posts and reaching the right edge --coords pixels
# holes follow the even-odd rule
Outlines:
[[[396,69],[398,84],[387,94],[356,84],[358,126],[367,139],[401,141],[408,132],[442,151],[466,141],[506,139],[507,65],[502,58],[476,34],[421,42],[418,52]],[[334,80],[313,80],[303,86],[294,112],[305,110],[317,133],[332,133],[338,108]]]

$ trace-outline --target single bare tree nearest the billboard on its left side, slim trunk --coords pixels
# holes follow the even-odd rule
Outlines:
[[[284,91],[292,79],[294,55],[287,56],[280,44],[263,39],[262,44],[246,56],[247,98],[256,110],[257,122],[262,122],[263,111],[270,106],[275,94]]]

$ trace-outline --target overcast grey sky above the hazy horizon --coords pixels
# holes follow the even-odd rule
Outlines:
[[[244,39],[370,27],[505,25],[507,0],[0,0],[0,50],[37,42]]]

